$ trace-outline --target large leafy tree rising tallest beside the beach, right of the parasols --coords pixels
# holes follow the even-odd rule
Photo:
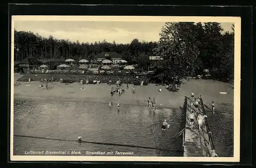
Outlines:
[[[198,33],[193,22],[166,22],[162,28],[155,55],[162,58],[154,64],[157,78],[173,81],[176,76],[190,75],[199,55]]]

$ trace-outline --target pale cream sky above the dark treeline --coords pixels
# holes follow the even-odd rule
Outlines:
[[[140,41],[158,41],[159,33],[165,22],[133,22],[133,21],[31,21],[15,20],[16,31],[38,33],[48,38],[52,35],[56,39],[69,39],[94,43],[106,40],[116,43],[131,43],[137,38]],[[226,31],[231,32],[232,22],[221,22]]]

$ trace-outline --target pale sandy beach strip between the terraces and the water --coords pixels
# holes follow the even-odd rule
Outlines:
[[[18,78],[18,75],[15,76],[14,80]],[[183,107],[184,96],[190,97],[193,90],[195,97],[202,95],[204,104],[207,106],[214,101],[217,111],[220,104],[228,104],[230,108],[233,108],[232,84],[211,80],[189,79],[181,86],[179,92],[169,92],[164,86],[148,84],[148,86],[135,86],[135,94],[132,94],[133,85],[129,85],[129,89],[127,89],[126,84],[124,84],[125,93],[120,96],[114,94],[113,97],[110,95],[110,89],[111,87],[115,88],[115,85],[109,86],[105,83],[99,85],[80,85],[78,83],[65,85],[57,82],[49,83],[49,90],[38,88],[40,84],[41,82],[38,81],[21,82],[21,85],[14,86],[14,98],[91,103],[109,103],[109,100],[112,100],[113,103],[147,106],[147,99],[150,97],[156,99],[157,107],[161,105],[162,108],[179,108],[180,106]],[[81,90],[81,87],[84,87],[84,90]],[[161,92],[158,91],[159,88],[162,88]],[[220,92],[227,92],[227,94],[220,94]]]

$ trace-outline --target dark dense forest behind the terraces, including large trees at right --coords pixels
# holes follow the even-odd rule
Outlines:
[[[158,42],[134,39],[131,43],[117,44],[105,40],[94,43],[72,42],[14,30],[14,60],[20,61],[27,57],[39,60],[91,60],[103,51],[110,51],[121,54],[130,63],[137,62],[142,67],[150,65],[158,78],[197,75],[203,69],[214,72],[214,78],[232,78],[234,33],[222,31],[221,24],[217,22],[166,22]],[[163,60],[150,63],[149,56],[160,56]]]

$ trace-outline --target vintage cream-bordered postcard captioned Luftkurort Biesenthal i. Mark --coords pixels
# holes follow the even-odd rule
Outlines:
[[[12,16],[11,161],[240,160],[240,17]]]

